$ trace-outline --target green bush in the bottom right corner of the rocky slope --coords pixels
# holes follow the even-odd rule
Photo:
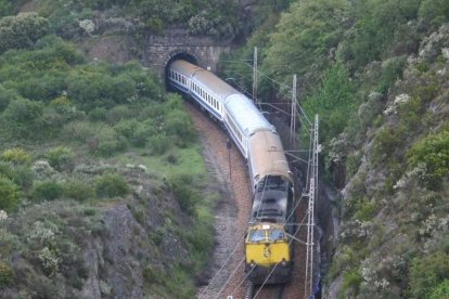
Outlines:
[[[438,251],[422,258],[414,258],[410,269],[410,297],[428,298],[448,278],[448,253]]]

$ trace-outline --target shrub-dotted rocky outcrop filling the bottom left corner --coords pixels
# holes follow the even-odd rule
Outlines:
[[[100,164],[74,171],[92,178],[112,169],[128,182],[126,198],[94,206],[43,202],[14,219],[0,216],[1,252],[12,256],[9,268],[0,263],[0,298],[153,298],[145,294],[152,284],[161,284],[180,262],[194,264],[183,236],[191,216],[167,183],[155,183],[141,166]],[[44,160],[34,171],[57,179]],[[8,285],[5,273],[14,284]]]

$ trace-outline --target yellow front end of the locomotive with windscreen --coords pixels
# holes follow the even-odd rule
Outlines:
[[[254,284],[288,282],[293,262],[290,239],[283,225],[259,223],[249,226],[245,257],[245,271]]]

